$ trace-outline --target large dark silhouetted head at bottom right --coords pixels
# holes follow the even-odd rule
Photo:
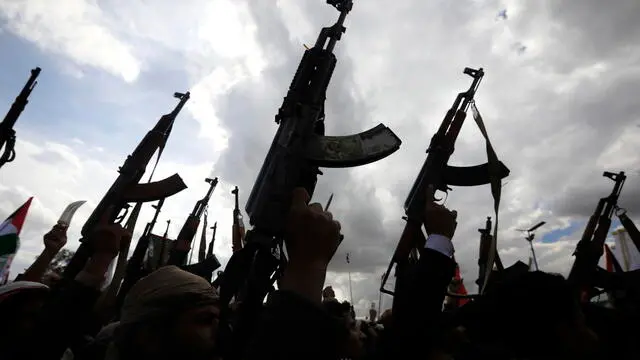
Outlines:
[[[525,273],[466,310],[463,325],[472,340],[500,345],[513,355],[582,358],[597,343],[569,283],[560,275]]]

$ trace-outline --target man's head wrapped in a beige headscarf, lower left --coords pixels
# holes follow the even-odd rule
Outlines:
[[[210,358],[218,329],[218,294],[203,278],[175,266],[138,281],[122,306],[120,352],[181,359]]]

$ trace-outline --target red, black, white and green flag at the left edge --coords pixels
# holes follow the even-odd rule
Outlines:
[[[20,247],[19,235],[33,197],[0,224],[0,281],[6,282],[11,261]]]

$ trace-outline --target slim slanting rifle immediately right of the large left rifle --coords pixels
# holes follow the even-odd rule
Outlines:
[[[156,222],[158,221],[158,215],[160,215],[162,205],[164,205],[164,199],[160,199],[157,205],[151,205],[156,211],[153,214],[151,221],[144,227],[144,232],[142,233],[142,236],[140,236],[135,249],[133,249],[133,254],[131,254],[129,261],[127,262],[125,276],[122,280],[122,285],[118,290],[118,297],[116,300],[118,312],[122,307],[125,296],[127,296],[129,290],[131,290],[131,287],[133,287],[138,280],[147,274],[144,270],[144,257],[147,254],[149,239],[153,232],[153,228],[156,226]]]

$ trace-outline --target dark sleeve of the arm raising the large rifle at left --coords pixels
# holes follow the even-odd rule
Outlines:
[[[93,316],[100,291],[77,281],[64,284],[42,309],[28,359],[59,360],[74,339],[81,337]]]

